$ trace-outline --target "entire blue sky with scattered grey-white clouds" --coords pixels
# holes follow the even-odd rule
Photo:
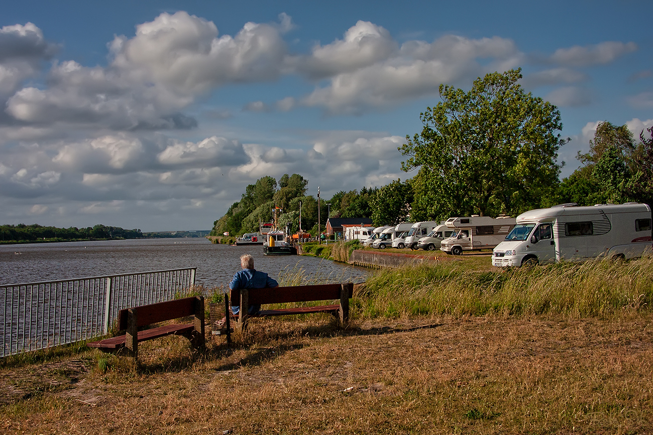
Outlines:
[[[650,1],[3,2],[0,224],[209,230],[248,184],[381,187],[441,83],[522,68],[562,116],[653,125]]]

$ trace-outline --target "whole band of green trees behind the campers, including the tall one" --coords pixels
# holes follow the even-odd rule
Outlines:
[[[375,225],[444,220],[453,216],[511,215],[559,203],[653,203],[653,127],[637,142],[626,125],[599,123],[580,168],[560,181],[556,106],[524,92],[520,69],[478,78],[470,91],[440,85],[441,101],[420,114],[422,131],[399,148],[411,179],[381,188],[340,191],[320,202],[322,228],[330,217],[372,218]],[[285,174],[263,177],[214,222],[213,235],[255,232],[270,210],[283,208],[280,223],[317,232],[317,200],[308,180]],[[317,189],[315,189],[317,190]]]

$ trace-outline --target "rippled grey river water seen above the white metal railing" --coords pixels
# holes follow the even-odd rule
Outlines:
[[[0,284],[99,277],[197,267],[195,283],[229,284],[240,256],[251,254],[257,270],[302,275],[319,282],[362,282],[367,269],[308,256],[264,256],[259,245],[214,245],[208,239],[131,239],[0,245]],[[293,271],[295,269],[295,271]]]

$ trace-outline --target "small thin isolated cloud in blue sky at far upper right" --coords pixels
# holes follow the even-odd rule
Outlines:
[[[590,65],[605,65],[624,54],[637,50],[635,42],[606,41],[589,46],[573,46],[558,48],[550,61],[569,67],[587,67]]]

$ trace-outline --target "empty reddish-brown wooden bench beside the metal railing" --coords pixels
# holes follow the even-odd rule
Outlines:
[[[187,316],[195,316],[193,323],[163,325],[138,331],[138,328],[152,323]],[[174,301],[125,308],[118,313],[118,329],[125,330],[127,333],[119,337],[88,343],[88,346],[99,348],[103,352],[124,353],[137,358],[138,342],[166,335],[183,335],[191,340],[193,346],[204,347],[204,297],[185,297]]]

